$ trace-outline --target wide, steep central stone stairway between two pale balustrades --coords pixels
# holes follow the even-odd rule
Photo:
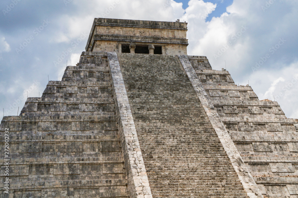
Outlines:
[[[118,58],[153,197],[247,197],[178,56]]]

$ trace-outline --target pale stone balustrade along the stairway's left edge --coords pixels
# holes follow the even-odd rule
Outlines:
[[[116,52],[108,52],[108,64],[116,103],[118,131],[124,155],[124,165],[131,198],[152,198],[134,119]]]

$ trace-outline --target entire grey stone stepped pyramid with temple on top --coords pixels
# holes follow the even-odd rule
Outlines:
[[[298,198],[298,121],[186,32],[96,18],[79,63],[1,121],[1,198]]]

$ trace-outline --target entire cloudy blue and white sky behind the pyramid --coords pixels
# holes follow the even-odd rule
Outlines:
[[[297,9],[297,0],[1,0],[0,120],[78,62],[94,18],[187,21],[189,55],[298,118]]]

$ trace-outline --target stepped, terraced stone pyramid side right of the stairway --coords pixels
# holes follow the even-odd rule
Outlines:
[[[298,121],[250,86],[236,86],[229,72],[212,70],[207,58],[188,58],[261,193],[297,198]]]

